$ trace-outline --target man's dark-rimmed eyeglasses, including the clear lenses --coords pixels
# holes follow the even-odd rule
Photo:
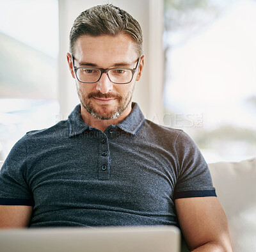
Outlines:
[[[140,58],[137,59],[135,68],[93,68],[93,67],[75,67],[74,57],[72,56],[73,68],[76,78],[81,83],[97,83],[101,75],[106,73],[109,80],[115,84],[131,83],[133,75],[139,67]]]

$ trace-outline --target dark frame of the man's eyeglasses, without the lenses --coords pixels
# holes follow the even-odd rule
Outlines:
[[[81,68],[88,68],[88,69],[100,70],[100,77],[99,77],[99,79],[97,79],[97,81],[93,81],[92,83],[97,83],[97,82],[100,80],[102,74],[106,73],[106,74],[108,75],[109,70],[113,70],[113,69],[115,69],[115,70],[122,70],[122,69],[131,70],[131,72],[132,72],[131,81],[132,81],[134,74],[135,74],[135,73],[137,72],[137,70],[138,70],[138,67],[139,67],[139,65],[140,65],[140,64],[139,64],[139,63],[140,63],[140,59],[141,59],[141,56],[137,59],[137,63],[136,63],[136,67],[135,67],[135,68],[124,68],[124,67],[123,67],[123,68],[122,68],[122,67],[118,67],[118,68],[75,67],[74,56],[73,56],[73,54],[71,54],[71,53],[70,53],[70,55],[71,55],[71,58],[72,58],[72,64],[73,64],[72,67],[73,67],[73,70],[74,70],[76,79],[77,79],[77,81],[79,81],[80,83],[88,83],[88,82],[85,82],[85,81],[80,81],[80,80],[78,79],[78,77],[77,77],[77,70],[78,70],[78,69],[81,69]],[[109,79],[109,81],[111,81],[111,79],[109,78],[109,75],[108,75],[108,79]],[[128,83],[131,83],[131,81],[129,81]],[[111,83],[115,83],[115,82],[114,82],[114,81],[111,81]],[[128,83],[115,83],[115,84],[122,85],[122,84],[128,84]]]

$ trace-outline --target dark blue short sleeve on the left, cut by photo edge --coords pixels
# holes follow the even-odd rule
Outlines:
[[[0,205],[31,205],[33,196],[26,182],[26,136],[12,148],[0,170]]]

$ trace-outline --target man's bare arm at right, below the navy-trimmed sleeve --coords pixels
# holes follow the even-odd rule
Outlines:
[[[216,197],[178,198],[175,207],[189,249],[232,251],[227,217]]]

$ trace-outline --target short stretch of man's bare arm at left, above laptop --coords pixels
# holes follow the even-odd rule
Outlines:
[[[27,227],[32,209],[26,205],[0,205],[0,228]]]

